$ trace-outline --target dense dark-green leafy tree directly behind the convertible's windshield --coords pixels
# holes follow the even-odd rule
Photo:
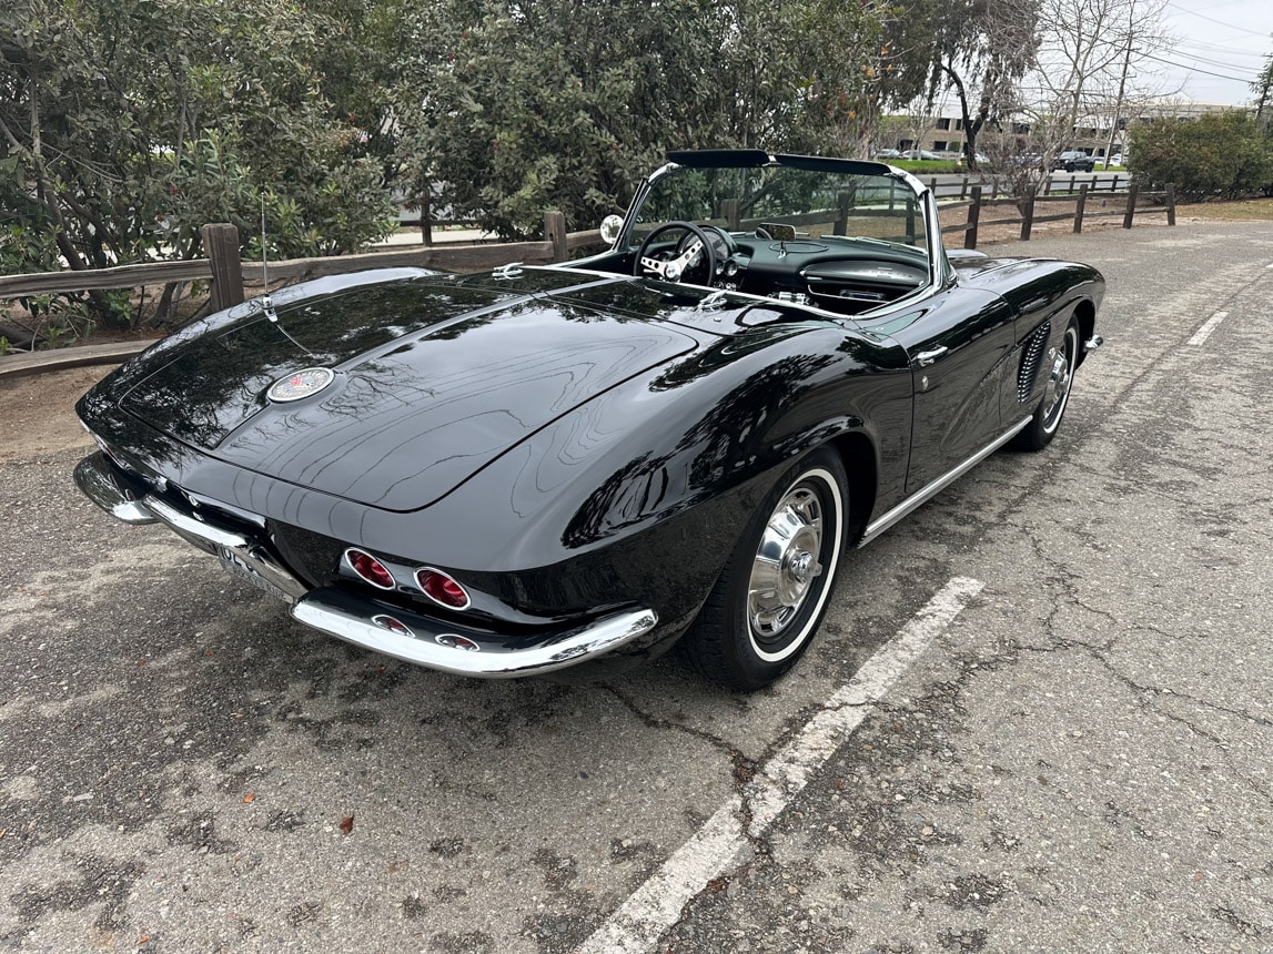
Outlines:
[[[395,108],[407,191],[518,237],[549,207],[621,211],[667,149],[843,142],[864,23],[834,0],[420,5]]]

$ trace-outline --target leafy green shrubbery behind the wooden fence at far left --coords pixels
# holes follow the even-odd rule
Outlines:
[[[317,69],[331,18],[250,0],[17,0],[0,9],[0,179],[71,268],[190,258],[207,221],[284,254],[348,252],[391,211]],[[10,230],[14,225],[10,225]],[[47,265],[47,256],[31,265]],[[171,290],[169,290],[171,294]],[[97,317],[126,321],[93,299]]]

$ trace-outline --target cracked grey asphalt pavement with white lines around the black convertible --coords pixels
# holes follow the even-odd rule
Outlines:
[[[0,463],[0,949],[1273,950],[1273,224],[988,251],[1109,279],[1060,435],[754,696],[418,670]]]

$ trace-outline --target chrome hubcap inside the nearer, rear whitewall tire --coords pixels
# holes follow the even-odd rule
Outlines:
[[[813,491],[793,487],[765,524],[751,563],[747,617],[763,640],[787,628],[822,572],[822,505]]]

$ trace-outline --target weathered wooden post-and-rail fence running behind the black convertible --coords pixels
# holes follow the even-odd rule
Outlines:
[[[934,182],[936,184],[936,182]],[[1072,183],[1073,184],[1073,183]],[[992,187],[993,188],[993,187]],[[969,195],[964,198],[964,195]],[[992,196],[994,192],[992,191]],[[1072,204],[1073,209],[1063,212],[1039,215],[1040,207]],[[1096,209],[1092,206],[1097,205]],[[964,178],[961,198],[943,202],[945,215],[957,209],[967,209],[966,220],[959,225],[946,225],[942,233],[964,233],[964,247],[976,248],[978,230],[988,225],[1021,225],[1021,240],[1029,240],[1035,223],[1073,220],[1073,232],[1083,229],[1083,221],[1097,216],[1122,215],[1123,228],[1130,229],[1138,209],[1156,207],[1166,211],[1167,224],[1176,224],[1175,190],[1167,186],[1162,192],[1143,192],[1133,182],[1125,192],[1108,191],[1099,193],[1080,183],[1076,192],[1058,195],[1049,190],[1040,196],[1026,198],[987,198],[983,187],[969,184]],[[1012,218],[987,219],[985,210],[1011,207],[1017,215]],[[163,285],[182,281],[207,281],[213,310],[229,308],[244,299],[244,280],[255,285],[264,284],[260,262],[239,259],[238,230],[233,225],[211,224],[202,228],[204,251],[206,258],[192,258],[176,262],[146,262],[143,265],[121,265],[112,268],[92,268],[81,271],[33,272],[27,275],[0,276],[0,300],[23,298],[27,295],[48,295],[90,289],[130,289],[145,285]],[[444,268],[456,272],[475,272],[495,268],[510,262],[524,265],[550,265],[569,261],[570,253],[578,248],[601,245],[601,233],[566,232],[565,216],[561,212],[545,212],[544,239],[536,242],[508,242],[499,244],[471,245],[412,245],[384,249],[353,256],[331,256],[323,258],[293,258],[270,262],[269,273],[272,280],[297,281],[316,279],[323,275],[344,275],[364,268],[421,267]]]

